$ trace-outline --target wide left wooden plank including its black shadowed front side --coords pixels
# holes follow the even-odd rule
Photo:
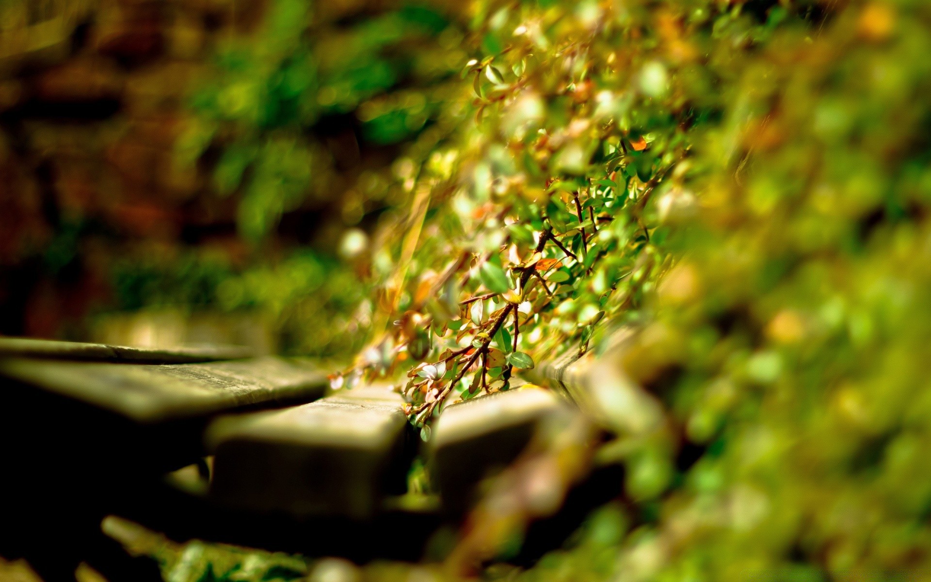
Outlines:
[[[0,438],[17,442],[20,463],[48,457],[58,460],[43,473],[160,474],[203,454],[212,416],[317,399],[327,378],[277,358],[163,365],[0,358],[0,386]]]

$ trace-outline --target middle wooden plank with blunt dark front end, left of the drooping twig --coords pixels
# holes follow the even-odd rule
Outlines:
[[[404,487],[410,433],[402,404],[387,386],[359,387],[216,421],[210,494],[236,508],[369,519],[385,494]]]

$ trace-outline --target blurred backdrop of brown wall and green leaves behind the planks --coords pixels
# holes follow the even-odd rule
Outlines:
[[[352,260],[464,61],[446,12],[4,0],[0,332],[357,345]]]

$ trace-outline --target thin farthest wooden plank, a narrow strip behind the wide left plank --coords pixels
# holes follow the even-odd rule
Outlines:
[[[238,345],[198,345],[162,349],[59,342],[25,337],[0,337],[0,357],[180,364],[248,358],[251,355],[250,348]]]

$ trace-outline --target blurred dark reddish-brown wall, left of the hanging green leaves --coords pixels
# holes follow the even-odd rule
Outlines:
[[[129,248],[235,240],[175,162],[190,88],[262,2],[0,1],[0,333],[79,336]]]

